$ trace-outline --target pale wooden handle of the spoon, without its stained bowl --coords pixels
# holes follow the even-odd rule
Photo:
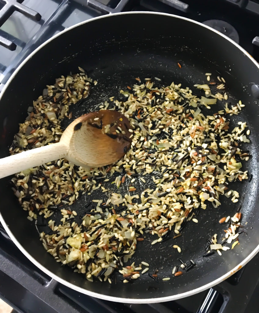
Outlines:
[[[7,156],[0,159],[0,178],[60,159],[66,155],[67,146],[57,142]]]

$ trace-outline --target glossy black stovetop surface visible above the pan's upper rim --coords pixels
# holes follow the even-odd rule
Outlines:
[[[0,9],[5,1],[10,0],[1,0]],[[96,0],[88,1],[89,5],[96,2]],[[11,51],[0,45],[0,84],[6,83],[17,65],[48,38],[89,18],[100,16],[108,11],[116,12],[114,7],[120,2],[120,0],[99,1],[104,4],[110,3],[111,8],[103,5],[106,7],[106,12],[104,10],[98,12],[92,8],[95,7],[94,5],[87,6],[87,0],[24,0],[22,2],[22,6],[25,8],[24,14],[14,11],[4,23],[1,22],[0,11],[0,25],[2,25],[0,38],[9,40],[13,44],[11,49],[15,49]],[[180,6],[183,11],[163,3],[167,1],[181,3],[181,1],[175,0],[121,0],[126,3],[123,11],[165,12],[191,18],[198,22],[223,20],[235,28],[240,45],[259,60],[259,47],[252,44],[253,38],[259,36],[259,1],[246,1],[247,7],[242,9],[231,3],[231,0],[185,0],[184,3],[188,7],[186,9],[186,7],[181,8]],[[243,0],[232,1],[244,2]],[[15,2],[15,0],[11,2]],[[30,8],[28,13],[26,13],[27,8]],[[187,12],[184,12],[186,10]],[[228,27],[226,27],[223,32],[228,34],[228,31]],[[16,47],[14,47],[15,45]]]

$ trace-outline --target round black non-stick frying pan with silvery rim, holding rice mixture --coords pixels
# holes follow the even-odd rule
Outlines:
[[[181,69],[177,65],[179,60]],[[247,121],[251,130],[249,150],[253,156],[246,167],[253,179],[235,184],[241,195],[239,203],[233,204],[223,197],[220,208],[202,210],[199,223],[190,223],[181,237],[154,246],[152,238],[138,244],[132,260],[141,262],[145,259],[151,270],[158,267],[158,283],[148,275],[142,275],[134,284],[123,284],[120,280],[117,285],[90,283],[69,267],[61,267],[42,247],[34,223],[27,220],[27,213],[20,208],[6,178],[0,181],[0,221],[10,237],[48,275],[75,290],[107,300],[132,303],[173,300],[205,290],[232,275],[259,250],[259,109],[258,101],[251,95],[251,85],[259,84],[257,63],[227,37],[186,18],[139,12],[80,23],[38,48],[6,84],[0,100],[0,157],[8,155],[8,145],[18,130],[18,123],[24,121],[32,100],[61,74],[76,72],[78,65],[87,69],[98,84],[92,88],[92,95],[85,103],[72,109],[74,118],[96,109],[97,104],[112,95],[119,97],[118,91],[133,84],[138,76],[159,76],[168,84],[174,81],[191,87],[195,83],[206,83],[204,73],[218,71],[227,81],[228,101],[242,100],[247,105],[240,115],[233,117],[232,123]],[[213,109],[218,110],[223,103]],[[96,197],[98,193],[91,195],[91,198]],[[73,208],[80,212],[84,203],[81,198]],[[240,235],[240,245],[223,251],[222,257],[215,254],[202,258],[206,239],[214,233],[222,234],[224,226],[218,223],[219,218],[233,216],[240,204],[247,236]],[[183,247],[182,254],[174,252],[172,244]],[[173,277],[172,268],[180,265],[178,257],[185,261],[193,259],[197,266],[180,277]],[[171,280],[162,281],[163,275],[169,275]]]

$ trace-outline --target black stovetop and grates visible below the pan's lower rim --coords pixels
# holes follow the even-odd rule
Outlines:
[[[254,273],[258,273],[259,254],[229,279],[199,294],[163,303],[123,304],[82,295],[57,283],[21,253],[1,224],[0,251],[0,296],[4,288],[4,300],[19,313],[38,308],[44,313],[257,312],[259,277]]]

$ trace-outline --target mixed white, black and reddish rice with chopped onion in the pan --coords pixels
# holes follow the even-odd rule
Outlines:
[[[61,121],[72,117],[69,106],[85,101],[90,87],[97,84],[83,69],[79,71],[56,79],[33,101],[26,121],[14,137],[11,154],[59,141]],[[238,201],[239,194],[230,189],[229,183],[248,178],[247,171],[242,171],[242,162],[249,155],[240,144],[249,142],[249,131],[246,122],[241,121],[230,129],[228,118],[238,114],[244,105],[241,101],[231,107],[226,103],[224,110],[202,114],[202,107],[210,109],[217,101],[227,100],[225,80],[217,77],[212,82],[212,74],[206,74],[208,84],[194,85],[204,91],[200,98],[181,84],[156,87],[156,83],[162,85],[157,77],[136,78],[135,85],[120,91],[124,101],[111,95],[109,102],[100,105],[102,110],[112,103],[132,126],[132,145],[116,164],[90,169],[60,159],[12,178],[12,189],[22,208],[28,211],[28,219],[47,219],[50,233],[40,233],[40,240],[57,262],[68,264],[90,281],[95,276],[111,283],[109,276],[116,268],[127,283],[149,269],[145,261],[124,265],[134,254],[137,242],[145,240],[146,233],[154,235],[151,244],[159,244],[169,238],[170,232],[171,236],[180,236],[188,221],[197,223],[195,213],[205,209],[207,203],[217,208],[223,195],[231,197],[233,203]],[[134,181],[138,177],[143,183],[152,177],[155,187],[136,190]],[[111,183],[117,186],[117,193],[106,189]],[[121,194],[125,184],[127,192]],[[82,194],[87,197],[99,188],[102,199],[87,203],[80,223],[76,223],[77,212],[64,205],[67,207]],[[57,211],[62,214],[59,224],[51,219]],[[213,254],[213,250],[221,254],[221,250],[229,249],[223,245],[225,241],[234,240],[232,249],[238,244],[240,232],[236,230],[240,219],[241,213],[237,212],[234,217],[219,221],[229,223],[225,239],[219,244],[215,234],[204,256]],[[183,249],[177,245],[173,248],[179,253]],[[195,265],[190,262],[182,262],[181,269]],[[172,274],[179,276],[182,271],[175,266]],[[157,273],[153,278],[157,279]]]

